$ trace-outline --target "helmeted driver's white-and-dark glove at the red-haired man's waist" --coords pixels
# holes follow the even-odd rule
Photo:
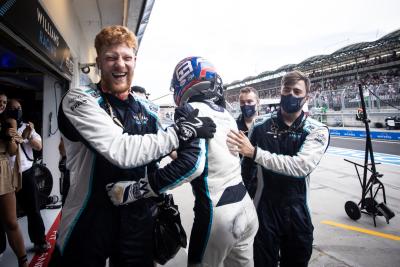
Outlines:
[[[115,206],[132,203],[136,200],[158,196],[151,189],[147,178],[139,181],[122,181],[106,185],[107,194]]]

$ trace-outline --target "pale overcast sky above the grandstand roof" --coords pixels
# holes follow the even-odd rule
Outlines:
[[[150,99],[165,96],[188,56],[212,62],[225,84],[242,80],[377,40],[400,29],[399,10],[399,0],[157,0],[133,82]]]

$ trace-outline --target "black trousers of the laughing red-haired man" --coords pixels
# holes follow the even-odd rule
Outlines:
[[[154,267],[153,217],[149,199],[115,207],[89,201],[64,248],[56,246],[49,267]],[[63,249],[63,251],[61,251]]]

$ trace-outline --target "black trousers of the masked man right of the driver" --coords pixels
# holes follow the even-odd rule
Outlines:
[[[306,267],[312,254],[311,217],[303,198],[262,199],[254,239],[255,267]]]

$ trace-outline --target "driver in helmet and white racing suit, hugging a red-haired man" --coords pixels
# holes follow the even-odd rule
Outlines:
[[[108,186],[109,196],[121,205],[190,182],[195,218],[188,265],[253,266],[258,220],[240,175],[239,156],[226,144],[227,133],[237,126],[224,108],[221,78],[205,59],[188,57],[176,66],[172,89],[178,106],[213,119],[218,125],[215,137],[180,145],[176,160],[139,181],[141,190],[135,190],[136,182],[120,182]]]

